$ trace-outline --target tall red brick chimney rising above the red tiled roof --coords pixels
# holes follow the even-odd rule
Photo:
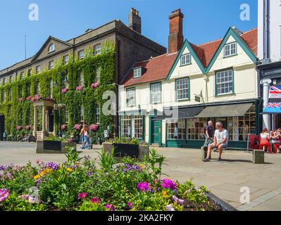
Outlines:
[[[182,35],[182,19],[183,14],[180,8],[173,11],[169,16],[170,21],[170,34],[168,43],[168,53],[175,53],[180,50],[183,44]]]

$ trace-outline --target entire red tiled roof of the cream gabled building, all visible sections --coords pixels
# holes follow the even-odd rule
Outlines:
[[[249,30],[240,35],[240,37],[245,41],[249,49],[257,56],[258,51],[258,28]],[[220,46],[223,39],[218,39],[216,41],[211,41],[206,44],[195,45],[189,42],[192,49],[195,51],[201,63],[207,68],[208,64],[211,62],[213,56],[215,55],[218,47]],[[150,60],[135,63],[134,68],[142,67],[144,72],[142,77],[137,79],[133,77],[133,70],[130,71],[127,79],[122,83],[124,86],[132,86],[135,84],[143,84],[146,82],[155,82],[161,79],[166,79],[168,72],[173,66],[175,59],[177,58],[177,53],[165,54],[152,58]]]

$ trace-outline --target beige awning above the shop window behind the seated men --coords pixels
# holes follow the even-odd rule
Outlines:
[[[244,116],[253,103],[207,106],[196,118]]]

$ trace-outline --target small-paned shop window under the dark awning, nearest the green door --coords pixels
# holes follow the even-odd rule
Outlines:
[[[168,139],[185,140],[186,133],[185,120],[171,120],[167,122]]]

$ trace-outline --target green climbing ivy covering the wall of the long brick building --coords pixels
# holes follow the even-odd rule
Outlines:
[[[96,79],[96,70],[100,70],[100,82],[97,88],[91,85]],[[77,60],[77,56],[70,54],[67,65],[63,65],[60,58],[55,63],[53,70],[46,70],[39,74],[32,71],[31,75],[27,72],[23,79],[17,79],[11,84],[0,86],[0,114],[5,117],[5,130],[8,135],[16,136],[16,127],[25,125],[35,126],[34,109],[32,101],[27,101],[27,97],[33,97],[37,94],[41,98],[52,97],[59,103],[60,88],[54,85],[55,81],[59,84],[59,79],[65,79],[67,72],[68,92],[62,94],[62,103],[68,109],[68,131],[67,134],[77,134],[74,129],[75,124],[80,123],[80,108],[84,108],[84,120],[87,124],[96,122],[96,105],[100,105],[100,124],[99,130],[91,132],[92,141],[95,142],[98,137],[104,136],[104,129],[109,125],[113,127],[113,117],[102,113],[102,105],[106,100],[102,99],[105,91],[116,91],[115,86],[115,46],[112,42],[106,41],[101,46],[101,53],[93,55],[93,49],[88,48],[85,51],[85,58]],[[82,91],[76,91],[80,84],[80,74],[83,74],[84,85]],[[62,76],[62,77],[60,77]],[[52,84],[52,88],[51,88]],[[62,82],[63,84],[63,82]],[[39,85],[39,91],[38,90]],[[63,84],[62,88],[65,88]],[[9,99],[9,89],[11,89],[11,99]],[[51,96],[52,89],[52,96]],[[39,93],[38,93],[39,92]],[[4,102],[1,101],[2,93],[5,93]],[[55,129],[59,130],[59,111],[54,113]],[[65,123],[65,109],[62,110],[62,123]]]

